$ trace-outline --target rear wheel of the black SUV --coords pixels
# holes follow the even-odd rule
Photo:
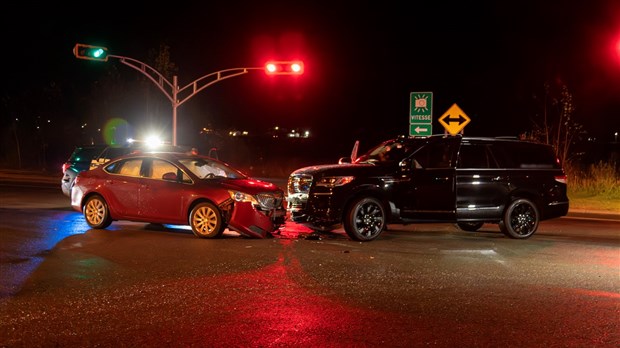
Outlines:
[[[539,222],[540,214],[536,205],[529,199],[519,198],[504,211],[499,229],[510,238],[526,239],[536,232]]]

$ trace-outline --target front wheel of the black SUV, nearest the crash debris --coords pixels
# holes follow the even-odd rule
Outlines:
[[[379,237],[386,226],[385,210],[381,202],[373,197],[359,198],[346,211],[344,230],[347,235],[360,242]]]

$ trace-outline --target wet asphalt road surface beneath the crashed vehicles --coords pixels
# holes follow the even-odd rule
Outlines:
[[[5,181],[0,231],[0,347],[620,346],[615,219],[200,240],[89,229],[59,187]]]

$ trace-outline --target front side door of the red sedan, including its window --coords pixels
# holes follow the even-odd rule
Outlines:
[[[148,159],[145,177],[140,185],[140,217],[150,222],[187,224],[185,192],[192,184],[164,179],[164,174],[180,177],[180,168],[163,159]]]

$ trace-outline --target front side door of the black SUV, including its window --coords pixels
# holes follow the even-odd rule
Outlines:
[[[427,221],[450,221],[456,216],[455,162],[460,138],[432,142],[408,161],[410,180],[399,190],[401,216]]]

